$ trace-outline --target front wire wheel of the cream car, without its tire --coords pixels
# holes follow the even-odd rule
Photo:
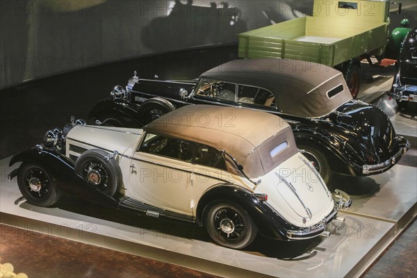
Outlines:
[[[42,169],[33,167],[25,175],[26,189],[35,198],[42,198],[49,193],[49,177]]]

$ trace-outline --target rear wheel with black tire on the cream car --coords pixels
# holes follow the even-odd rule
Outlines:
[[[243,249],[256,238],[257,229],[249,213],[233,202],[218,202],[206,214],[208,235],[218,245]]]

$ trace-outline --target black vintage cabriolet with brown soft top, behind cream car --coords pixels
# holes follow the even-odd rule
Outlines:
[[[187,104],[267,111],[293,128],[297,147],[329,182],[333,173],[369,175],[389,170],[409,149],[384,112],[352,99],[337,70],[286,59],[232,60],[198,81],[139,79],[115,86],[90,118],[112,126],[143,126]],[[234,115],[219,115],[233,120]]]

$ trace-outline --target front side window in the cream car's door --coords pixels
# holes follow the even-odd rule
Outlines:
[[[139,152],[155,154],[191,163],[193,161],[193,143],[165,136],[147,133]]]

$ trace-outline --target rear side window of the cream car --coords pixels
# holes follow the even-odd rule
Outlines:
[[[195,164],[226,170],[222,154],[215,148],[195,143]]]

